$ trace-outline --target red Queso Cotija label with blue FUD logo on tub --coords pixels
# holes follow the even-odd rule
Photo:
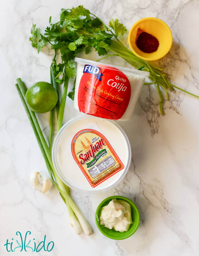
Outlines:
[[[130,82],[119,69],[84,65],[78,90],[80,112],[118,120],[128,107],[130,95]]]

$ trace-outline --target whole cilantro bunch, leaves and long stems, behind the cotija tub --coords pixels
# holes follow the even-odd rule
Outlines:
[[[150,72],[151,83],[147,84],[153,84],[159,93],[162,115],[164,114],[163,91],[167,100],[169,100],[170,91],[173,91],[174,88],[199,98],[199,96],[172,85],[166,79],[162,69],[148,64],[147,61],[135,56],[126,48],[118,38],[123,36],[127,30],[118,19],[111,19],[109,26],[106,26],[89,10],[83,6],[78,6],[72,9],[62,9],[60,20],[52,24],[50,17],[49,23],[50,26],[45,29],[44,34],[41,34],[40,29],[33,24],[30,41],[32,41],[32,46],[37,48],[38,53],[47,43],[51,44],[51,48],[55,50],[55,57],[57,52],[61,53],[62,63],[57,64],[55,57],[52,63],[55,79],[59,84],[65,83],[67,77],[73,78],[75,76],[75,69],[71,61],[76,54],[81,51],[89,53],[91,48],[95,48],[100,56],[120,56],[136,69]],[[108,54],[109,51],[114,54]],[[59,78],[60,76],[62,78]],[[74,87],[68,96],[74,99]]]

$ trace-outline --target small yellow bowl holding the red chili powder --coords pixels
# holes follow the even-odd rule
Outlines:
[[[135,39],[138,29],[152,34],[159,41],[159,47],[156,52],[144,53],[138,49]],[[157,18],[144,18],[137,21],[129,31],[128,42],[130,49],[137,56],[146,61],[155,61],[164,57],[171,49],[172,45],[172,33],[170,28],[165,22]]]

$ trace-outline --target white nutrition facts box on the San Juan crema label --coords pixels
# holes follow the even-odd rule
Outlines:
[[[94,178],[113,164],[115,164],[114,159],[112,158],[112,156],[108,156],[106,159],[102,160],[100,163],[90,168],[88,172],[90,173],[91,177]]]

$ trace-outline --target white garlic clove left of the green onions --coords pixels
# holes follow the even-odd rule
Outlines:
[[[52,187],[51,179],[47,175],[39,173],[38,171],[31,174],[30,182],[33,187],[36,187],[36,189],[42,191],[42,193],[46,193]]]

